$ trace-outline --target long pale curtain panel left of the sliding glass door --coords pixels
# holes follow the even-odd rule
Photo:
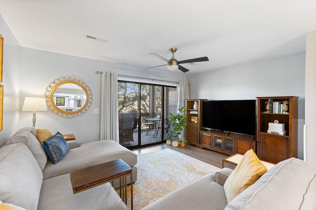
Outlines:
[[[100,140],[118,139],[118,74],[103,72],[101,76]]]

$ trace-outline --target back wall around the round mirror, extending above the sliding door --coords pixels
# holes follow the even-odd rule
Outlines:
[[[100,116],[93,109],[100,109],[101,74],[96,71],[111,71],[121,75],[155,78],[167,81],[186,81],[183,74],[171,71],[144,70],[127,64],[91,60],[75,56],[46,52],[22,47],[21,50],[21,93],[19,109],[24,97],[44,97],[46,87],[61,76],[75,76],[83,80],[91,89],[93,102],[90,109],[80,117],[67,119],[51,111],[37,112],[36,127],[46,128],[52,133],[75,134],[79,144],[99,140]],[[147,81],[150,82],[150,81]],[[99,112],[100,113],[100,112]],[[32,125],[32,112],[20,112],[21,127]]]

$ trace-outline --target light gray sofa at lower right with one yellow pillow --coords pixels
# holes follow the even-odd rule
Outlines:
[[[143,210],[316,210],[316,168],[303,160],[279,162],[227,203],[223,185],[232,171],[204,175]]]

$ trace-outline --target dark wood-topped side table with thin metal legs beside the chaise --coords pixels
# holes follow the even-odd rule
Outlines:
[[[133,209],[133,174],[132,168],[121,159],[102,163],[95,166],[79,169],[70,172],[73,192],[78,193],[83,190],[104,184],[106,182],[119,179],[119,196],[127,205],[127,181],[126,177],[130,175],[130,199],[131,210]]]

